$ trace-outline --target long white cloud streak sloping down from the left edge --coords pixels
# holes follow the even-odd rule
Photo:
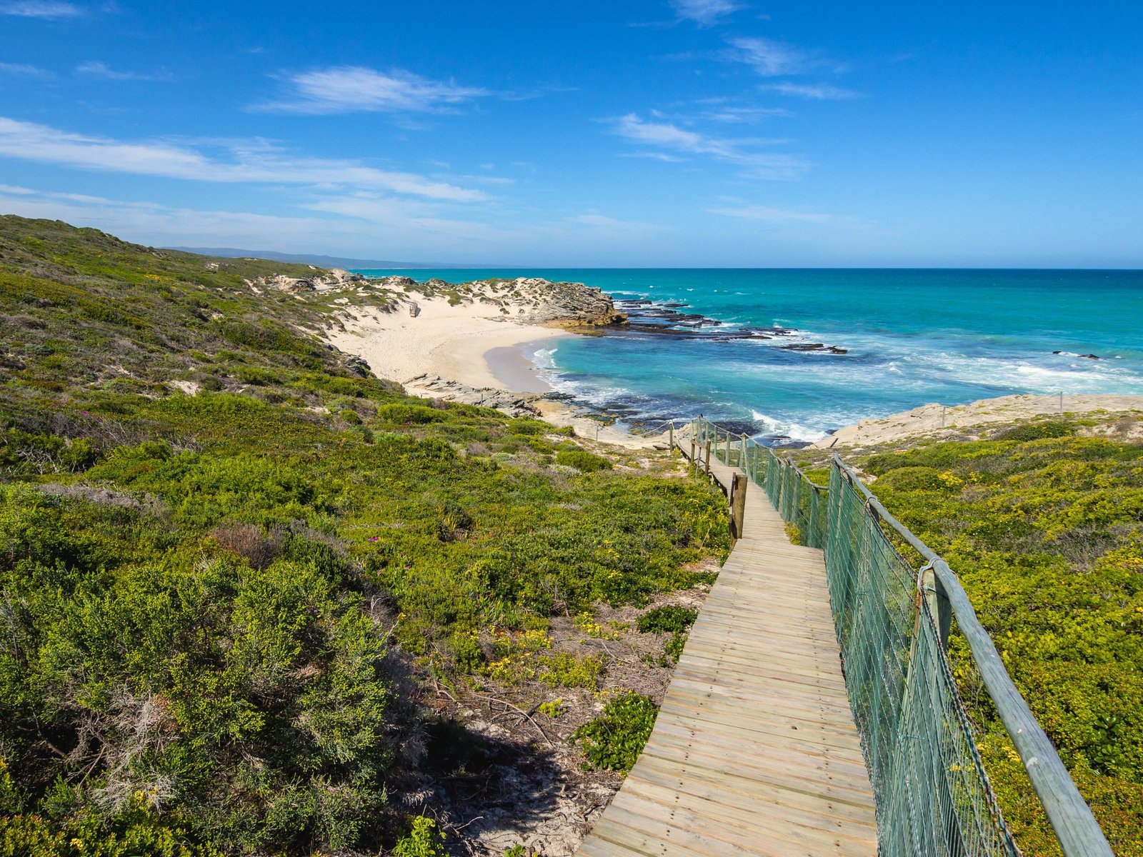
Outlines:
[[[434,182],[411,173],[379,170],[350,160],[290,157],[264,142],[231,144],[231,159],[224,161],[185,144],[123,142],[2,117],[0,155],[105,173],[195,182],[349,185],[453,202],[487,199],[482,191]]]

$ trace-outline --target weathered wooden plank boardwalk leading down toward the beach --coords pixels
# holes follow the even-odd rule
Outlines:
[[[711,462],[724,486],[734,472]],[[655,730],[577,854],[877,855],[822,552],[790,543],[753,482]]]

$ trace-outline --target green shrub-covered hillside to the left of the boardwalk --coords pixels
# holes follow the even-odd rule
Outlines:
[[[265,286],[320,273],[0,218],[0,854],[439,855],[490,760],[646,738],[575,640],[662,647],[597,617],[709,584],[720,495],[406,397],[312,333],[338,291]]]

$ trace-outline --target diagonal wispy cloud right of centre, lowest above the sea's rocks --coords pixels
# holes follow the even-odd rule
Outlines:
[[[777,141],[709,137],[671,122],[647,121],[636,113],[620,117],[612,125],[615,134],[621,137],[660,150],[656,155],[662,154],[662,150],[666,150],[669,154],[682,152],[709,155],[735,163],[757,178],[794,178],[809,168],[797,155],[757,151],[758,145]]]

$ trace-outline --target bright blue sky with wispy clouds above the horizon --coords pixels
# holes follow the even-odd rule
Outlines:
[[[1143,5],[0,0],[0,211],[529,266],[1143,267]]]

